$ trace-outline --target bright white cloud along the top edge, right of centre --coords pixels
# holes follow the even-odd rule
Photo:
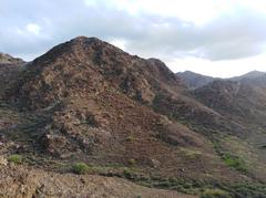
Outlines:
[[[150,13],[174,17],[195,25],[204,25],[221,15],[235,14],[241,9],[266,12],[265,0],[83,0],[86,6],[106,4],[130,14]],[[98,3],[96,3],[98,2]]]

